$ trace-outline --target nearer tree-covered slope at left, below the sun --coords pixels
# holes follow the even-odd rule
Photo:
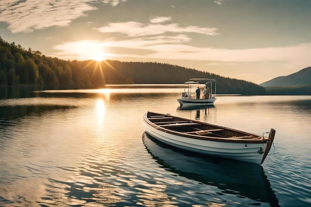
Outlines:
[[[45,89],[101,87],[133,83],[117,70],[96,61],[64,61],[0,41],[0,84],[41,85]]]

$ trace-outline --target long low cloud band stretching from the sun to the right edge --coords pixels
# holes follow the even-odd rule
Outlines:
[[[142,58],[146,60],[189,60],[205,61],[209,64],[234,64],[256,62],[284,62],[291,64],[309,64],[311,43],[289,45],[284,47],[253,48],[253,49],[222,49],[208,47],[194,47],[187,45],[191,39],[186,35],[157,36],[149,38],[135,38],[131,40],[106,40],[106,41],[79,41],[69,42],[55,46],[59,50],[54,53],[56,57],[70,57],[76,54],[76,58],[85,60],[86,50],[94,50],[92,47],[100,47],[107,51],[109,48],[118,48],[120,52],[111,53],[110,57]],[[125,53],[122,50],[131,51]],[[135,53],[133,51],[140,51]],[[115,50],[114,50],[115,51]],[[141,51],[146,51],[142,53]]]

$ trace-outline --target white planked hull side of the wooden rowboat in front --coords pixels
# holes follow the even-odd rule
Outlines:
[[[157,126],[148,123],[148,120],[145,118],[143,121],[143,126],[150,136],[168,145],[197,153],[257,164],[262,163],[265,154],[263,152],[266,151],[268,145],[268,142],[226,142],[217,140],[213,141],[205,139],[194,139],[188,138],[186,136],[183,137],[170,132],[170,130],[160,130]]]

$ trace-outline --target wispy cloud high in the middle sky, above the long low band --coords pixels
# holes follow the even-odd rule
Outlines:
[[[118,32],[127,34],[130,37],[160,35],[167,32],[170,33],[199,33],[205,35],[217,35],[217,28],[186,26],[182,27],[177,23],[161,24],[171,17],[154,17],[148,24],[135,21],[128,22],[108,22],[106,26],[98,28],[102,33]]]

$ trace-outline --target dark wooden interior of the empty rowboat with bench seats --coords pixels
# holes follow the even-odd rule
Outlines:
[[[182,120],[170,115],[155,115],[148,118],[159,127],[171,129],[176,132],[188,135],[196,135],[211,138],[230,138],[230,139],[260,139],[247,133],[228,130],[226,128],[216,128],[214,125]]]

